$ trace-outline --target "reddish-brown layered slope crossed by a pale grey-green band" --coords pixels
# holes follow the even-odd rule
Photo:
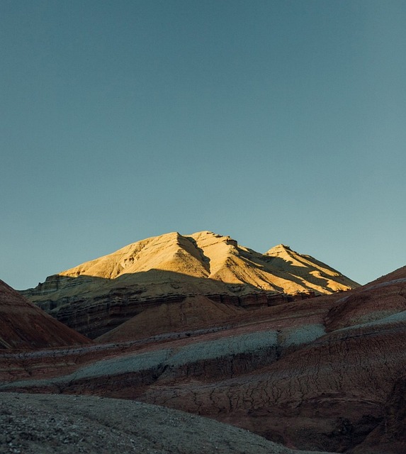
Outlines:
[[[18,358],[0,357],[1,389],[137,399],[291,448],[406,450],[406,268],[345,294],[239,311],[217,330],[191,321],[188,332],[49,353],[47,376],[26,355],[16,380]]]

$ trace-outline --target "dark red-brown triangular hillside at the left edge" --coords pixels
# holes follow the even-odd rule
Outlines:
[[[0,349],[26,350],[90,342],[0,280]]]

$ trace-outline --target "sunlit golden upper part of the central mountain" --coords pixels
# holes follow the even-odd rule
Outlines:
[[[328,294],[357,285],[328,265],[287,246],[278,245],[262,255],[238,245],[230,236],[209,231],[147,238],[59,275],[116,279],[151,270],[288,293],[311,289]]]

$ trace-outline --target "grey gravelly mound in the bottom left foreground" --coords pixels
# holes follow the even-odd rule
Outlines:
[[[241,428],[161,406],[15,393],[0,393],[0,453],[299,454]]]

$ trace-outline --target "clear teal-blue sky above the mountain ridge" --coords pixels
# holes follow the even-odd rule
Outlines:
[[[406,265],[406,1],[1,0],[0,279],[170,231]]]

